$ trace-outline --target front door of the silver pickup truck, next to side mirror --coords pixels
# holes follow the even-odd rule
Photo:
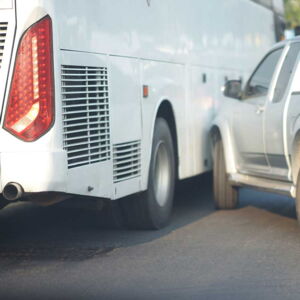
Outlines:
[[[270,52],[247,83],[242,100],[237,103],[232,130],[241,173],[268,174],[265,155],[263,115],[276,65],[283,48]]]

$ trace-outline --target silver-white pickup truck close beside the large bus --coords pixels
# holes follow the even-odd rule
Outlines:
[[[296,198],[300,219],[299,52],[299,38],[278,43],[244,88],[226,83],[211,128],[216,208],[235,208],[250,186]]]

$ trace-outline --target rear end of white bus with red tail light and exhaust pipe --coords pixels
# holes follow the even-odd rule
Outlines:
[[[56,138],[52,19],[40,1],[0,1],[0,192],[65,192]]]

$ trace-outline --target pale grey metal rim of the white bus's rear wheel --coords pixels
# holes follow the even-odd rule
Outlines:
[[[168,201],[171,184],[171,163],[164,142],[157,145],[154,157],[155,198],[159,206],[163,207]]]

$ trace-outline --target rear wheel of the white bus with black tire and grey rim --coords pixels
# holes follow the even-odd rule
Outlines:
[[[160,229],[171,216],[175,185],[175,157],[165,119],[154,128],[148,190],[121,200],[126,224],[132,229]]]

